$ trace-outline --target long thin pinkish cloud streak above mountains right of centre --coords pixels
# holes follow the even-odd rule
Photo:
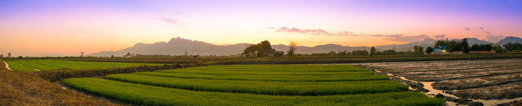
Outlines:
[[[298,28],[288,28],[288,27],[280,27],[280,28],[267,28],[267,29],[275,29],[276,32],[287,32],[287,33],[304,33],[311,35],[335,35],[335,36],[371,36],[371,37],[385,37],[384,39],[389,41],[399,41],[399,42],[417,42],[422,41],[425,38],[429,38],[430,35],[416,35],[416,36],[406,36],[402,34],[389,34],[389,35],[361,35],[361,34],[353,34],[350,31],[342,31],[342,32],[328,32],[322,29],[298,29]],[[435,38],[444,38],[446,35],[435,35]]]

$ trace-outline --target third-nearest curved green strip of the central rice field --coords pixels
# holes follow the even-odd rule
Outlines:
[[[188,73],[161,73],[161,72],[136,72],[133,74],[177,77],[177,78],[199,78],[199,79],[227,79],[242,81],[277,81],[277,82],[341,82],[341,81],[376,81],[388,80],[386,75],[206,75]]]

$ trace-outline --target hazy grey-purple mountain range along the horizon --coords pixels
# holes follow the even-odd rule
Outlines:
[[[467,38],[469,45],[473,44],[494,44],[486,41],[481,41],[477,38]],[[460,41],[461,39],[450,39],[450,41]],[[401,45],[381,45],[375,46],[377,50],[387,50],[394,49],[397,51],[408,51],[412,50],[413,46],[433,46],[436,40],[432,38],[426,38],[421,42],[413,42],[408,44]],[[522,43],[522,39],[519,37],[506,37],[502,39],[498,44],[503,45],[508,42],[518,42]],[[210,43],[200,42],[200,41],[192,41],[189,39],[184,39],[180,37],[172,38],[169,42],[156,42],[153,44],[145,44],[145,43],[137,43],[133,47],[125,48],[118,51],[101,51],[93,54],[89,54],[87,56],[102,56],[102,57],[110,57],[114,56],[124,56],[127,52],[131,52],[133,54],[142,54],[142,55],[184,55],[185,51],[191,55],[234,55],[240,54],[244,48],[248,45],[246,43],[241,44],[233,44],[233,45],[214,45]],[[272,48],[278,51],[287,51],[288,46],[286,45],[272,45]],[[342,46],[337,44],[326,44],[326,45],[317,45],[314,47],[307,46],[299,46],[296,50],[296,53],[299,54],[311,54],[318,52],[329,52],[329,51],[352,51],[352,50],[369,50],[370,47],[350,47],[350,46]]]

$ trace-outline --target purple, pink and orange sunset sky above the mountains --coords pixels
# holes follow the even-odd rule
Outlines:
[[[77,55],[181,37],[377,46],[522,37],[521,1],[0,1],[0,54]]]

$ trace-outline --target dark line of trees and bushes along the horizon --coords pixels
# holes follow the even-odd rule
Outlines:
[[[287,57],[306,57],[306,56],[373,56],[373,55],[423,55],[424,53],[430,54],[434,47],[437,46],[446,46],[446,50],[448,52],[453,51],[463,51],[468,53],[469,51],[495,51],[497,54],[506,53],[506,52],[521,52],[522,51],[522,44],[520,43],[506,43],[502,46],[500,45],[493,45],[493,44],[474,44],[469,46],[467,38],[462,39],[461,41],[448,41],[446,40],[438,40],[435,41],[435,45],[433,47],[424,47],[422,46],[414,46],[413,50],[408,51],[396,51],[395,47],[394,49],[389,50],[382,50],[377,51],[375,47],[372,47],[370,50],[338,50],[334,51],[331,50],[330,52],[322,52],[322,53],[311,53],[311,54],[298,54],[295,53],[299,50],[298,44],[295,42],[290,42],[289,44],[289,50],[284,54],[284,56]],[[143,55],[143,54],[133,54],[131,52],[128,52],[127,55],[124,55],[123,57],[115,57],[111,56],[111,58],[161,58],[161,57],[178,57],[178,58],[198,58],[198,57],[263,57],[263,49],[272,49],[270,46],[270,42],[263,41],[258,44],[250,45],[247,48],[244,49],[242,54],[235,54],[235,55],[190,55],[188,54],[188,51],[185,51],[184,55]],[[83,55],[83,54],[82,54]],[[61,59],[61,58],[68,58],[68,59],[78,59],[78,58],[107,58],[107,57],[101,57],[101,56],[80,56],[80,57],[4,57],[4,55],[0,54],[0,58],[13,58],[13,59]]]

